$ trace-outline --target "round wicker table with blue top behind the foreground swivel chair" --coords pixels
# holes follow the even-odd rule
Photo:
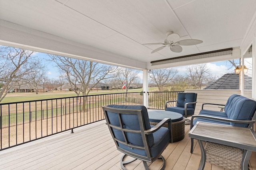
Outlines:
[[[180,113],[165,110],[148,110],[150,125],[156,125],[164,118],[172,119],[172,142],[181,141],[185,136],[185,117]],[[168,127],[168,123],[164,125]]]

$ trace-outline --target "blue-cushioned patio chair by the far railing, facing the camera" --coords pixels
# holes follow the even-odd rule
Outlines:
[[[190,122],[187,117],[194,115],[196,108],[196,93],[178,93],[177,100],[165,102],[166,111],[174,111],[180,113]],[[176,106],[174,104],[176,103]],[[169,106],[171,104],[171,107]]]

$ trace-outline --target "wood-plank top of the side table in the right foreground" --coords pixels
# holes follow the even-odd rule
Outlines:
[[[256,133],[253,129],[244,127],[199,121],[190,130],[188,136],[202,141],[256,151]]]

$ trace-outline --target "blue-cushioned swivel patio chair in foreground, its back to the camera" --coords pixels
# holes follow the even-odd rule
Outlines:
[[[163,119],[156,126],[150,125],[145,106],[108,105],[102,107],[106,124],[118,150],[124,153],[121,167],[135,160],[142,160],[144,168],[149,170],[147,162],[161,158],[165,168],[165,159],[161,155],[172,139],[171,119]],[[168,128],[162,127],[168,123]],[[124,161],[126,156],[132,160]]]

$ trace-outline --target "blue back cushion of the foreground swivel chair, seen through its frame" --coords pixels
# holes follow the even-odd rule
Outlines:
[[[114,107],[114,108],[119,108],[119,109],[141,109],[142,110],[142,116],[144,118],[144,124],[145,124],[145,129],[148,130],[150,129],[150,123],[148,119],[148,110],[145,106],[142,105],[135,105],[135,106],[128,106],[128,105],[108,105],[108,107]],[[107,112],[110,123],[116,126],[120,126],[119,119],[117,113],[113,112]],[[126,129],[133,129],[133,130],[140,130],[140,124],[139,124],[139,119],[137,115],[128,115],[128,114],[121,114],[121,120],[123,127]],[[122,131],[113,129],[114,135],[117,139],[125,141]],[[126,132],[126,137],[128,140],[128,143],[132,143],[134,145],[139,145],[139,146],[144,146],[143,141],[142,141],[142,136],[140,133],[127,133]],[[154,137],[153,135],[147,135],[148,138],[148,144],[150,147],[154,144]]]

